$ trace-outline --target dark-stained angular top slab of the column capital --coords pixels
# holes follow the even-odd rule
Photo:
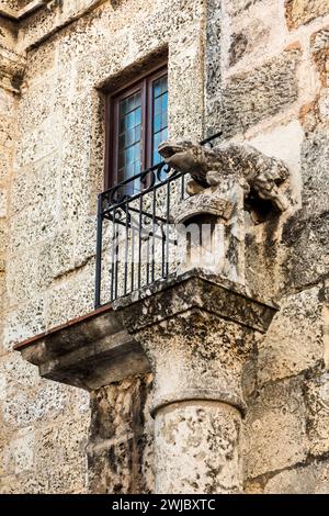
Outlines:
[[[241,283],[203,269],[172,274],[121,298],[113,306],[120,311],[124,325],[132,333],[195,309],[265,333],[279,310],[273,301],[256,296]]]

